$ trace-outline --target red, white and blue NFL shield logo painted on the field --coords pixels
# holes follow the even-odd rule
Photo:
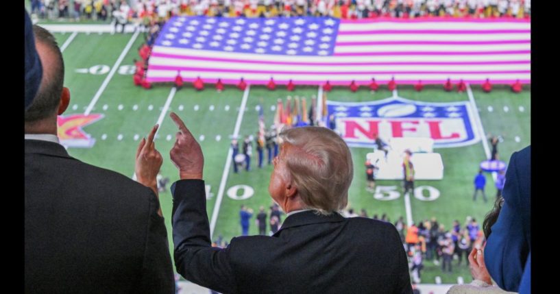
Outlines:
[[[480,140],[468,101],[433,103],[402,97],[358,103],[327,101],[328,121],[351,147],[374,147],[375,138],[432,138],[435,148]]]

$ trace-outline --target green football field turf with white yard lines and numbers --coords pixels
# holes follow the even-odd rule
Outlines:
[[[55,35],[59,45],[64,47],[64,84],[71,90],[71,103],[65,114],[89,113],[104,116],[83,127],[86,134],[95,138],[95,145],[91,148],[70,148],[71,156],[132,177],[134,155],[139,141],[154,124],[160,122],[160,130],[156,136],[156,148],[164,157],[160,173],[169,177],[172,183],[178,180],[178,171],[169,160],[169,150],[174,143],[175,132],[178,131],[169,119],[169,112],[173,111],[184,120],[195,137],[199,138],[204,152],[204,180],[209,191],[208,218],[215,219],[211,221],[211,225],[215,225],[212,239],[223,236],[229,241],[241,234],[241,204],[255,211],[259,206],[264,206],[268,211],[272,204],[267,190],[271,165],[265,162],[264,167],[258,169],[254,146],[252,171],[241,170],[235,174],[232,167],[224,171],[230,140],[237,124],[240,137],[256,134],[258,107],[264,108],[265,123],[269,127],[273,123],[277,99],[298,95],[306,97],[309,105],[311,96],[317,95],[317,87],[297,87],[293,93],[284,90],[283,86],[273,92],[262,86],[254,86],[245,93],[228,86],[222,93],[217,93],[214,85],[210,84],[202,92],[193,90],[190,84],[176,93],[171,85],[144,90],[132,83],[132,60],[138,58],[137,49],[143,43],[142,34]],[[513,94],[505,86],[495,86],[491,93],[483,93],[480,87],[473,86],[472,95],[485,134],[500,134],[504,138],[498,145],[500,159],[507,162],[514,151],[531,144],[531,90],[528,86],[521,94]],[[370,93],[365,87],[357,93],[351,93],[348,88],[334,88],[328,93],[328,99],[332,101],[372,101],[391,96],[393,93],[385,86],[376,93]],[[415,92],[411,86],[399,86],[398,96],[415,101],[469,101],[467,93],[446,93],[441,86],[426,87],[420,93]],[[246,105],[245,111],[240,115],[242,103]],[[367,148],[352,148],[354,180],[350,187],[349,207],[357,212],[365,209],[370,217],[380,217],[386,213],[393,223],[398,217],[406,220],[403,195],[394,200],[381,201],[374,199],[373,193],[366,191],[363,162],[365,155],[371,151]],[[410,217],[415,222],[436,217],[447,229],[451,228],[454,219],[464,223],[467,216],[476,218],[482,225],[496,193],[491,175],[487,174],[486,193],[489,201],[484,203],[480,197],[476,202],[472,201],[472,180],[478,171],[478,164],[487,157],[483,144],[478,142],[467,147],[439,148],[435,152],[443,158],[443,180],[416,181],[415,186],[431,186],[439,191],[439,197],[434,201],[410,197]],[[395,186],[395,191],[402,193],[400,181],[379,180],[377,185]],[[173,252],[169,186],[167,192],[160,193],[160,203],[169,230],[169,249]],[[235,186],[237,187],[232,188]],[[250,188],[244,188],[247,186]],[[254,193],[251,194],[251,190]],[[239,199],[245,198],[244,196],[248,198]],[[257,232],[252,221],[249,234]],[[437,276],[443,284],[456,283],[458,277],[469,282],[470,272],[465,262],[463,261],[461,269],[455,264],[456,260],[453,273],[441,273],[441,265],[425,261],[422,283],[433,284]]]

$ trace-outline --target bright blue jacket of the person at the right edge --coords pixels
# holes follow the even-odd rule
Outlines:
[[[518,292],[531,253],[531,146],[511,156],[502,196],[504,204],[492,225],[484,259],[501,289]],[[525,277],[531,284],[531,275]]]

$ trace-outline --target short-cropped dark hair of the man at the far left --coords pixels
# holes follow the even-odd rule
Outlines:
[[[56,62],[53,62],[50,68],[47,64],[42,64],[40,87],[33,103],[25,111],[25,123],[40,121],[56,114],[64,83],[64,60],[62,60],[62,53],[60,53],[56,39],[47,29],[38,25],[33,26],[33,34],[35,43],[46,45],[56,57]]]

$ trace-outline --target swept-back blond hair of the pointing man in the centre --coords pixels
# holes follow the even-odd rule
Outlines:
[[[282,153],[307,208],[322,215],[345,208],[354,176],[352,155],[342,138],[326,127],[283,130]]]

